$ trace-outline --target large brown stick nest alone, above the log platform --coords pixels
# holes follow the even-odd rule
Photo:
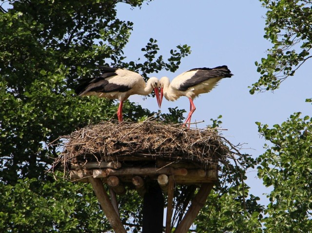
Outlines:
[[[215,129],[191,129],[156,121],[139,123],[102,122],[73,132],[53,168],[91,161],[147,160],[193,161],[206,167],[232,157],[226,139]],[[135,159],[134,159],[135,160]],[[53,169],[54,170],[54,169]]]

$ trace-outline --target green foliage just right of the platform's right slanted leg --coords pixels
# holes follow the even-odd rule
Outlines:
[[[255,163],[249,155],[242,155],[235,165],[221,167],[220,181],[195,220],[197,232],[262,232],[264,208],[246,184],[246,172]]]

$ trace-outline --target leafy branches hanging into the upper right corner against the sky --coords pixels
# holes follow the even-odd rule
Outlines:
[[[259,80],[255,91],[274,90],[308,59],[312,48],[312,2],[310,0],[260,0],[268,9],[264,38],[273,43],[267,58],[255,62]]]

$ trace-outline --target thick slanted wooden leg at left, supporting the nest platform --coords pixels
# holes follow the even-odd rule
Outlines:
[[[98,201],[102,207],[102,210],[112,225],[114,231],[118,233],[127,233],[112,205],[112,202],[106,194],[102,181],[93,177],[89,177],[88,179],[93,187],[94,193],[98,197]]]

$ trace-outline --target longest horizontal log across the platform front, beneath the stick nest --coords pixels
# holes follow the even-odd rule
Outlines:
[[[110,175],[187,175],[185,168],[120,168],[115,169],[95,169],[93,170],[94,178],[104,178]]]

